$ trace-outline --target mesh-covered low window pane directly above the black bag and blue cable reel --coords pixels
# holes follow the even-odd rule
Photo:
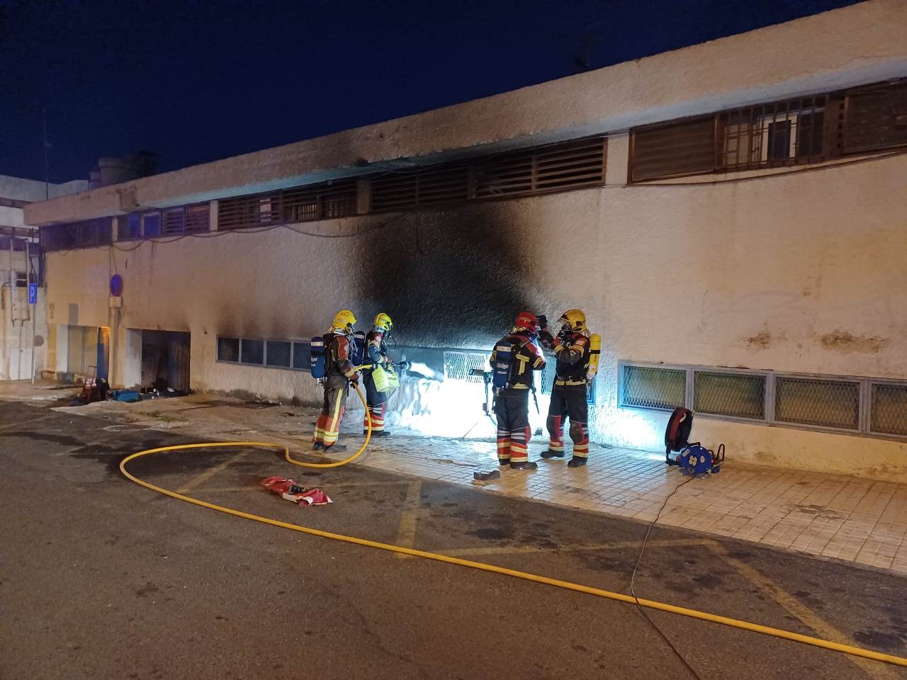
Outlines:
[[[696,371],[693,409],[733,418],[764,420],[766,375]]]

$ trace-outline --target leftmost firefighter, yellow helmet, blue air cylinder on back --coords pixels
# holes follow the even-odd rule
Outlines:
[[[325,398],[321,414],[315,423],[315,434],[312,437],[313,449],[324,451],[343,451],[343,445],[337,445],[340,436],[340,422],[343,420],[346,395],[349,384],[356,383],[356,373],[352,357],[356,353],[356,340],[353,338],[353,326],[356,315],[344,309],[336,313],[331,329],[323,335],[325,341]]]

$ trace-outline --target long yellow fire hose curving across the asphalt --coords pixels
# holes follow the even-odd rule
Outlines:
[[[362,395],[359,386],[356,385],[356,393],[359,394],[359,399],[362,400],[362,403],[366,406],[366,413],[368,413],[368,406],[366,400]],[[460,567],[469,567],[473,569],[481,569],[482,571],[490,571],[493,574],[502,574],[503,576],[510,576],[513,578],[522,578],[526,581],[533,581],[534,583],[541,583],[546,586],[555,586],[557,588],[564,588],[566,590],[573,590],[578,593],[585,593],[587,595],[595,595],[597,597],[605,597],[607,599],[617,600],[619,602],[626,602],[628,604],[639,604],[641,607],[649,607],[650,609],[658,609],[660,611],[667,611],[672,614],[679,614],[683,617],[698,618],[702,621],[711,621],[712,623],[722,624],[724,626],[730,626],[735,628],[740,628],[742,630],[749,630],[754,633],[762,633],[763,635],[781,637],[786,640],[793,640],[794,642],[801,642],[805,645],[812,645],[817,647],[822,647],[823,649],[831,649],[835,652],[843,652],[844,654],[850,654],[853,656],[862,656],[863,658],[873,659],[874,661],[882,661],[887,664],[893,665],[902,665],[907,666],[907,658],[902,656],[893,656],[891,654],[883,654],[881,652],[874,652],[871,649],[863,649],[862,647],[843,645],[841,643],[832,642],[831,640],[824,640],[820,637],[812,637],[801,635],[800,633],[794,633],[789,630],[783,630],[781,628],[775,628],[770,626],[761,626],[759,624],[750,623],[748,621],[743,621],[737,618],[730,617],[721,617],[717,614],[709,614],[708,612],[698,611],[697,609],[688,609],[687,607],[676,607],[674,605],[668,605],[665,602],[658,602],[656,600],[635,598],[629,595],[624,595],[623,593],[615,593],[610,590],[603,590],[601,588],[592,588],[591,586],[583,586],[580,583],[571,583],[570,581],[561,581],[557,578],[548,578],[545,576],[540,576],[538,574],[531,574],[527,571],[518,571],[517,569],[509,569],[504,567],[497,567],[493,564],[486,564],[484,562],[474,562],[472,559],[461,559],[454,558],[447,555],[442,555],[436,552],[427,552],[425,550],[417,550],[413,548],[405,548],[404,546],[395,546],[390,543],[381,543],[375,540],[369,539],[360,539],[357,536],[346,536],[344,534],[336,534],[330,531],[322,531],[321,529],[312,529],[311,527],[303,527],[298,524],[289,524],[288,522],[282,522],[279,520],[272,520],[269,517],[263,517],[261,515],[254,515],[249,512],[243,512],[241,510],[233,510],[232,508],[226,508],[222,505],[216,505],[215,503],[209,503],[205,500],[198,500],[190,498],[189,496],[184,496],[181,493],[176,491],[170,491],[169,489],[164,489],[155,484],[151,484],[149,481],[140,480],[138,477],[132,475],[129,471],[126,470],[126,464],[129,461],[133,461],[136,458],[141,458],[141,456],[151,455],[151,453],[161,453],[167,451],[182,451],[186,449],[210,449],[216,447],[224,446],[242,446],[249,447],[255,446],[264,449],[283,449],[285,452],[285,457],[287,460],[294,465],[300,465],[307,468],[335,468],[340,465],[346,465],[347,462],[353,461],[358,458],[362,452],[366,450],[368,441],[371,437],[372,426],[371,421],[369,421],[368,432],[366,434],[366,442],[363,443],[362,448],[359,449],[349,458],[346,458],[343,461],[329,462],[329,463],[307,463],[301,461],[295,461],[290,457],[289,448],[283,444],[278,444],[275,442],[210,442],[210,443],[200,443],[200,444],[180,444],[177,446],[161,446],[157,449],[147,449],[145,451],[135,452],[129,456],[126,456],[120,462],[120,471],[123,475],[131,481],[134,481],[136,484],[140,484],[146,489],[151,489],[151,491],[157,491],[162,493],[165,496],[170,496],[177,500],[185,500],[187,503],[192,503],[193,505],[199,505],[202,508],[208,508],[209,510],[218,510],[219,512],[226,512],[229,515],[235,517],[241,517],[245,520],[254,520],[262,522],[263,524],[270,524],[272,527],[280,527],[281,529],[290,529],[292,531],[299,531],[300,533],[309,534],[311,536],[319,536],[323,539],[333,539],[341,540],[345,543],[353,543],[354,545],[366,546],[366,548],[375,548],[379,550],[388,550],[390,552],[396,552],[403,555],[410,555],[414,558],[424,558],[424,559],[434,559],[437,562],[446,562],[447,564],[455,564]]]

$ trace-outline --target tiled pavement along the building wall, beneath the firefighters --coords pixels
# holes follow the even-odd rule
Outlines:
[[[311,453],[317,414],[315,409],[210,395],[93,403],[65,411],[132,423],[130,427],[178,429],[211,441],[281,442],[302,453]],[[341,442],[349,445],[346,455],[363,441],[360,418],[352,413],[346,419],[341,435]],[[530,460],[538,460],[546,442],[535,438]],[[586,468],[571,470],[564,461],[540,461],[538,471],[506,470],[500,480],[475,482],[473,471],[498,467],[493,442],[401,431],[372,442],[357,462],[641,521],[654,520],[668,495],[677,490],[659,524],[907,574],[907,484],[737,463],[733,451],[720,474],[691,480],[668,468],[663,455],[597,445],[591,447]]]

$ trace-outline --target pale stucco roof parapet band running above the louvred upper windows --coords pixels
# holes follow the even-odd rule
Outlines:
[[[907,3],[870,0],[432,112],[34,204],[32,225],[361,174],[365,161],[626,130],[907,73]],[[299,132],[300,136],[305,131]],[[382,167],[387,167],[385,162]]]

